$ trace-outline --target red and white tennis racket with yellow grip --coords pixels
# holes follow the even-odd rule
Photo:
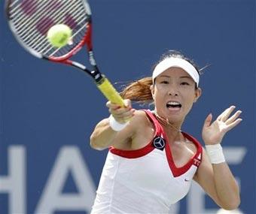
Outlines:
[[[98,89],[114,104],[124,106],[123,99],[104,74],[100,73],[93,56],[92,17],[86,0],[6,0],[8,24],[17,41],[33,56],[72,65],[89,74]],[[72,43],[53,47],[47,39],[48,30],[56,24],[72,29]],[[91,69],[71,58],[87,47]]]

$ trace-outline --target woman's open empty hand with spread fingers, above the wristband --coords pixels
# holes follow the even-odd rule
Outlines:
[[[242,121],[242,119],[238,118],[240,113],[242,113],[241,110],[237,110],[233,116],[230,116],[235,108],[235,106],[227,108],[214,122],[212,122],[212,113],[206,117],[202,131],[203,141],[206,145],[221,143],[227,131],[230,131]]]

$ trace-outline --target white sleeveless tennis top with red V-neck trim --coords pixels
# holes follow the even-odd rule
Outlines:
[[[154,123],[154,139],[142,149],[109,149],[92,214],[168,213],[171,204],[187,194],[200,165],[202,146],[182,132],[197,152],[183,167],[175,167],[162,126],[151,111],[145,112]]]

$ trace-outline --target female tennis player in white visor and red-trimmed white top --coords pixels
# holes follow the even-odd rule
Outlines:
[[[239,206],[239,187],[225,162],[221,141],[242,119],[234,106],[203,125],[203,141],[181,131],[200,98],[200,72],[181,53],[170,52],[152,77],[127,86],[126,107],[107,103],[111,115],[90,137],[94,149],[109,148],[92,213],[168,213],[198,182],[224,209]],[[134,110],[131,101],[154,102],[154,110]],[[232,114],[233,113],[233,114]]]

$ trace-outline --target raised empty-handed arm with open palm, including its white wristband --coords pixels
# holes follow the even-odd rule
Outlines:
[[[212,114],[206,117],[202,135],[207,152],[203,150],[202,163],[194,176],[194,180],[224,209],[236,209],[240,203],[239,187],[224,161],[220,144],[227,131],[242,121],[240,110],[230,116],[234,109],[234,106],[227,108],[214,122]]]

